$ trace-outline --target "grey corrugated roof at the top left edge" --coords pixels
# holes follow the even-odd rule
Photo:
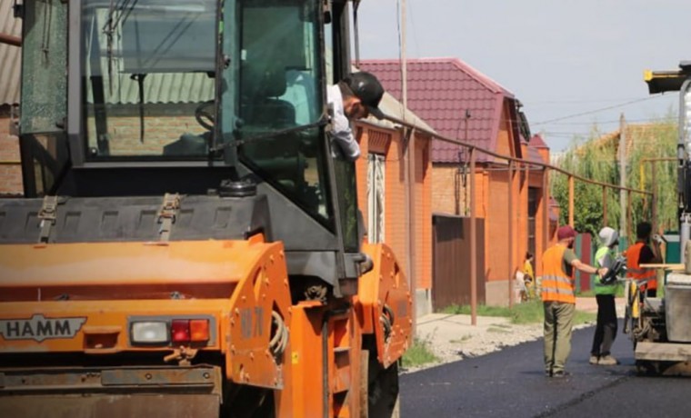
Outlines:
[[[21,36],[22,20],[15,19],[14,2],[0,1],[0,32]],[[19,76],[22,71],[22,48],[0,44],[0,105],[19,103]]]

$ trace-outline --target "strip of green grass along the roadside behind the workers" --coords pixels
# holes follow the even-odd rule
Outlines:
[[[442,314],[470,314],[470,305],[450,305],[440,311]],[[541,301],[531,301],[523,304],[515,304],[513,308],[506,306],[477,305],[478,316],[501,316],[509,318],[511,323],[542,323],[545,320],[545,311]],[[590,323],[596,320],[596,314],[577,311],[574,325]]]

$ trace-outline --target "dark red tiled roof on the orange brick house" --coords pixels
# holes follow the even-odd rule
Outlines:
[[[360,68],[375,74],[386,91],[401,99],[401,65],[398,60],[363,60]],[[515,98],[501,85],[457,58],[408,60],[408,108],[436,132],[495,150],[505,99]],[[511,119],[516,119],[514,105]],[[466,138],[466,110],[470,111]],[[516,137],[517,137],[517,130]],[[432,161],[456,163],[459,146],[434,141]],[[478,161],[486,161],[478,153]]]

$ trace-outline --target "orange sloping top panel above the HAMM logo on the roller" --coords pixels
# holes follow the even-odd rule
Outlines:
[[[266,245],[213,240],[8,244],[0,251],[0,285],[237,282]]]

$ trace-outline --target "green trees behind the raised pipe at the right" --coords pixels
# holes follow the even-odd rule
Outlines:
[[[673,157],[676,154],[676,121],[670,112],[664,121],[656,124],[632,124],[626,130],[629,136],[626,158],[626,186],[634,189],[655,191],[657,194],[657,223],[665,230],[676,230],[676,163],[656,162],[649,159]],[[593,127],[588,138],[576,138],[558,161],[557,165],[569,173],[598,182],[619,184],[618,134],[599,134]],[[653,166],[656,182],[653,183]],[[551,174],[552,194],[560,204],[560,223],[568,222],[568,176]],[[574,185],[574,227],[579,232],[596,232],[604,226],[603,201],[606,200],[607,224],[619,228],[619,192],[586,184],[576,180]],[[645,194],[630,194],[628,204],[632,209],[632,225],[651,220],[652,198]],[[603,196],[605,199],[603,199]]]

